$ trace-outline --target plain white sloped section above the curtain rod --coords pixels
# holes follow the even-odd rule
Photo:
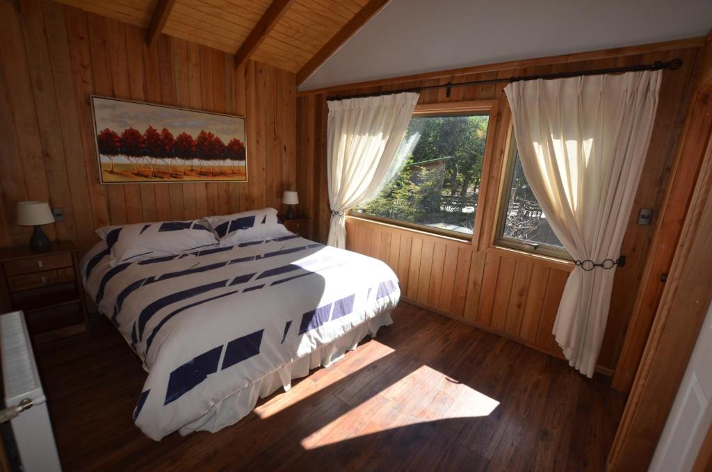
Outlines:
[[[391,0],[299,90],[704,36],[712,0]]]

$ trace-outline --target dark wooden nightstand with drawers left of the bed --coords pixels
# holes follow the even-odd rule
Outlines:
[[[48,251],[0,248],[0,313],[23,310],[35,342],[87,330],[77,250],[52,243]]]

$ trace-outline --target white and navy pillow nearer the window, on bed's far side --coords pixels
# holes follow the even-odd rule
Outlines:
[[[277,218],[277,210],[243,211],[231,215],[206,216],[221,245],[263,241],[288,236],[291,233]]]

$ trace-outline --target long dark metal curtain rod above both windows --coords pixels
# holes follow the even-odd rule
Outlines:
[[[575,72],[560,72],[553,74],[542,74],[542,75],[520,75],[519,77],[506,77],[506,78],[496,78],[488,80],[472,80],[471,82],[459,82],[459,83],[444,83],[441,85],[426,85],[424,87],[414,87],[414,88],[402,88],[399,90],[387,90],[384,92],[373,92],[373,93],[359,93],[356,95],[345,95],[345,96],[333,96],[327,98],[328,101],[335,100],[347,100],[349,98],[365,98],[365,97],[380,97],[382,95],[394,95],[396,93],[404,92],[422,92],[423,90],[435,90],[438,88],[446,88],[447,98],[450,98],[450,89],[454,87],[469,87],[470,85],[486,85],[490,83],[503,83],[503,82],[519,82],[520,80],[538,80],[538,79],[555,79],[555,78],[568,78],[568,77],[580,77],[582,75],[602,75],[602,74],[615,74],[623,72],[639,72],[642,70],[659,70],[659,69],[679,69],[682,65],[682,59],[676,58],[672,61],[662,62],[656,61],[651,64],[639,64],[630,65],[628,67],[613,67],[606,69],[590,69],[590,70],[577,70]]]

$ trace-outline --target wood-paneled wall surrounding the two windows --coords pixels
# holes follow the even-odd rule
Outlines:
[[[669,167],[676,159],[672,150],[676,147],[679,135],[681,113],[684,112],[689,90],[685,84],[689,82],[692,63],[695,61],[698,46],[701,42],[676,43],[676,48],[669,44],[656,47],[623,48],[607,53],[572,55],[567,58],[553,58],[550,62],[542,60],[517,61],[507,63],[502,67],[486,66],[468,69],[466,73],[429,74],[422,77],[397,78],[396,80],[380,80],[367,86],[349,85],[329,90],[318,90],[317,93],[298,93],[300,120],[298,120],[298,136],[300,153],[308,151],[310,165],[315,167],[315,179],[320,182],[313,184],[310,198],[310,208],[318,214],[325,214],[323,220],[315,218],[316,236],[328,232],[328,192],[325,182],[325,134],[327,131],[326,98],[334,95],[350,95],[354,93],[383,92],[399,88],[418,88],[437,83],[456,83],[465,80],[480,80],[485,78],[506,78],[513,75],[555,73],[573,70],[605,68],[615,65],[628,65],[642,61],[666,61],[681,57],[685,67],[676,71],[664,72],[664,86],[661,88],[660,110],[664,119],[656,121],[654,127],[654,142],[646,157],[646,171],[642,177],[641,188],[636,196],[632,210],[629,228],[624,238],[623,250],[629,257],[629,265],[617,271],[614,295],[612,298],[612,316],[615,320],[609,322],[604,337],[604,347],[600,357],[602,372],[612,372],[616,366],[620,345],[627,327],[627,316],[632,308],[632,300],[638,289],[642,271],[642,261],[646,260],[651,246],[651,228],[639,227],[634,216],[639,206],[659,208],[668,181]],[[583,59],[583,60],[582,60]],[[456,264],[456,280],[452,286],[451,300],[444,297],[450,290],[450,281],[446,279],[446,271],[442,280],[440,277],[439,257],[431,258],[427,241],[447,241],[445,258],[449,256],[451,242],[447,238],[421,235],[408,229],[395,229],[402,235],[398,276],[401,278],[404,290],[403,296],[409,300],[440,310],[454,316],[463,316],[466,322],[496,330],[501,334],[515,337],[521,342],[538,347],[545,352],[560,355],[560,349],[555,345],[551,330],[556,315],[558,301],[572,264],[567,261],[557,261],[552,258],[533,256],[527,253],[497,248],[493,241],[496,238],[499,198],[503,184],[503,164],[508,157],[511,113],[503,89],[506,83],[477,85],[465,88],[451,89],[450,98],[446,90],[426,90],[421,94],[419,103],[438,103],[444,100],[497,100],[498,110],[492,113],[488,150],[484,162],[483,175],[486,176],[480,190],[480,201],[475,228],[475,243],[462,246],[452,243],[458,248]],[[317,142],[323,139],[323,142]],[[654,150],[653,150],[654,148]],[[303,156],[298,157],[299,163]],[[320,172],[320,174],[319,174]],[[299,184],[298,187],[303,187]],[[355,226],[383,226],[357,218],[348,218],[348,224]],[[356,231],[356,234],[360,234]],[[409,241],[408,257],[403,257],[404,241]],[[453,246],[453,247],[454,247]],[[426,251],[423,251],[423,248]],[[434,255],[434,254],[433,254]],[[465,258],[461,260],[461,258]],[[437,261],[433,265],[433,260]],[[504,264],[502,271],[502,261]],[[408,264],[403,271],[403,264]],[[444,263],[445,264],[445,263]],[[423,268],[425,273],[421,273]],[[502,273],[500,273],[502,271]],[[405,277],[404,277],[405,276]],[[428,280],[423,280],[427,277]],[[527,280],[529,279],[529,280]],[[439,293],[431,283],[439,285]],[[427,289],[426,289],[427,288]],[[424,294],[426,298],[424,298]],[[434,303],[436,302],[437,303]],[[449,304],[449,307],[448,307]],[[613,315],[615,313],[615,315]]]

